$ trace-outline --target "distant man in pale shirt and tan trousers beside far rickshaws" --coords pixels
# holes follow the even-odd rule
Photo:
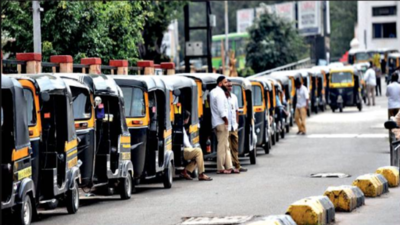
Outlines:
[[[295,80],[296,86],[296,111],[295,111],[295,121],[299,131],[297,134],[306,134],[306,117],[308,109],[308,99],[310,98],[308,94],[308,89],[300,82],[299,79]]]

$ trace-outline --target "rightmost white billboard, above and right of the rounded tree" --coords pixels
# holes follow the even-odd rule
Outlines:
[[[298,19],[299,31],[302,35],[316,35],[320,33],[320,1],[299,1]]]

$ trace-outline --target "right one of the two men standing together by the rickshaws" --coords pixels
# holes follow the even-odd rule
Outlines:
[[[232,82],[228,80],[228,91],[226,92],[226,96],[229,102],[229,111],[228,111],[228,130],[229,130],[229,149],[232,154],[232,164],[233,166],[239,170],[240,172],[247,172],[246,168],[243,168],[239,162],[239,136],[238,136],[238,127],[239,127],[239,104],[236,95],[232,92]]]

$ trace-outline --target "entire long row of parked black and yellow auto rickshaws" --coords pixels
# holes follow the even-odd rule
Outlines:
[[[335,91],[330,82],[336,73],[316,67],[230,78],[239,104],[239,155],[255,164],[257,147],[268,154],[289,132],[295,79],[310,90],[309,115],[332,107],[339,95],[346,102],[351,91]],[[218,76],[2,75],[2,210],[12,212],[14,223],[29,224],[38,208],[65,205],[76,213],[79,189],[129,199],[140,183],[171,188],[189,163],[182,154],[184,127],[204,158],[216,159],[208,94]],[[357,84],[355,72],[352,77]],[[344,89],[356,96],[356,87]],[[282,108],[287,113],[279,116]]]

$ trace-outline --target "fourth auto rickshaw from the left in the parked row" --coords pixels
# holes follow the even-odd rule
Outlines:
[[[121,87],[131,134],[131,160],[136,183],[161,179],[171,188],[174,169],[171,102],[159,76],[112,76]]]

